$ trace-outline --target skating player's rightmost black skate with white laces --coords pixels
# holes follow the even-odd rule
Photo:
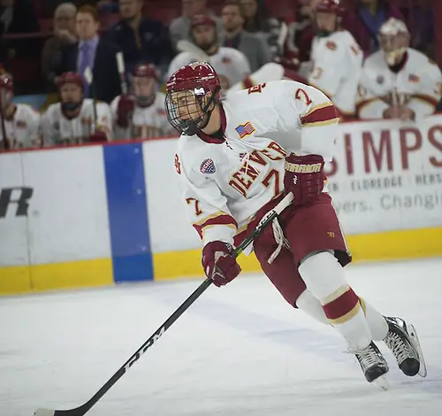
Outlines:
[[[385,320],[388,333],[384,342],[396,358],[400,371],[409,377],[416,374],[425,377],[427,368],[415,327],[400,318],[385,317]]]

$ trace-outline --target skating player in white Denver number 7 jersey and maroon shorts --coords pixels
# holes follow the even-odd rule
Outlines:
[[[263,272],[289,304],[344,336],[368,381],[388,371],[373,339],[385,340],[405,374],[425,374],[414,328],[384,318],[346,281],[351,257],[323,171],[339,122],[331,101],[296,81],[221,101],[213,67],[194,63],[172,74],[165,105],[181,131],[175,168],[202,238],[204,273],[217,286],[237,277],[233,245],[292,192],[293,204],[255,239]]]

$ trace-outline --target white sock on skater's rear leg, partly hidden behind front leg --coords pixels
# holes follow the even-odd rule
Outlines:
[[[362,306],[362,311],[365,313],[365,319],[367,320],[371,336],[374,341],[383,341],[388,332],[388,325],[384,316],[377,312],[377,310],[367,304],[362,297],[359,298]],[[311,318],[318,320],[319,322],[330,325],[330,320],[325,316],[323,305],[314,297],[309,289],[304,290],[301,296],[296,301],[296,306],[302,311],[307,313]]]

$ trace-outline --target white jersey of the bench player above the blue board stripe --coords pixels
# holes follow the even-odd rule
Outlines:
[[[164,94],[157,92],[155,101],[149,107],[140,107],[135,104],[132,116],[132,125],[122,128],[117,125],[117,109],[120,96],[116,96],[110,104],[112,112],[113,131],[115,140],[147,139],[164,135],[176,135],[176,130],[167,120],[164,109]]]

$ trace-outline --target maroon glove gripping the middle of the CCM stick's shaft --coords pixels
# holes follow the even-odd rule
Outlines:
[[[241,272],[240,265],[232,254],[232,245],[224,242],[210,242],[202,249],[204,273],[218,288],[232,281]]]

